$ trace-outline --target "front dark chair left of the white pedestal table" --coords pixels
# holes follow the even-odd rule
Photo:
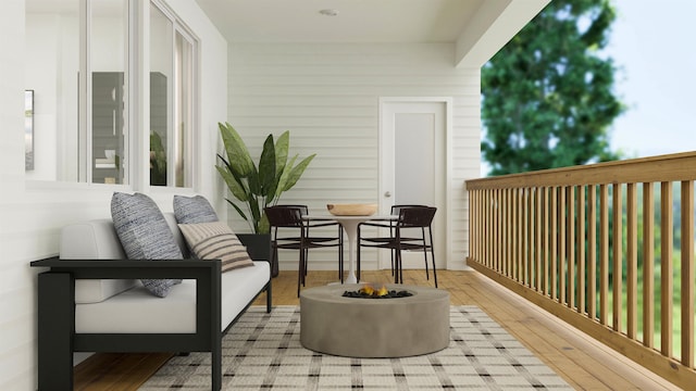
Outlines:
[[[307,205],[275,205],[265,209],[269,224],[271,225],[272,260],[277,260],[278,249],[298,250],[300,253],[297,295],[300,294],[300,285],[303,287],[307,277],[309,250],[316,248],[338,248],[338,277],[344,281],[344,237],[343,228],[336,222],[309,223],[302,218],[308,214]],[[310,229],[337,226],[336,236],[311,235]],[[281,229],[281,234],[278,232]],[[291,235],[284,235],[293,230]]]

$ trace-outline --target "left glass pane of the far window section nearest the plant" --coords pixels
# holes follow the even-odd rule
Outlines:
[[[171,155],[169,92],[173,80],[173,24],[150,4],[150,185],[167,186]],[[172,178],[173,179],[173,178]]]

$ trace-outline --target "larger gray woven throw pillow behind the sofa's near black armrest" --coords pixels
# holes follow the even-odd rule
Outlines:
[[[114,192],[111,218],[129,260],[181,260],[174,235],[154,201],[142,193]],[[141,279],[154,295],[164,298],[181,279]]]

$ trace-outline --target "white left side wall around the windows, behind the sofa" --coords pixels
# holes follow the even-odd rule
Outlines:
[[[227,116],[227,45],[195,2],[170,1],[201,40],[201,137],[197,192],[225,212],[213,168],[216,123]],[[36,390],[36,275],[29,262],[57,254],[71,222],[110,216],[128,187],[27,180],[24,173],[24,1],[0,4],[0,390]],[[147,108],[144,108],[147,109]],[[38,156],[40,157],[40,156]],[[38,159],[37,157],[37,159]],[[165,211],[175,190],[138,189]]]

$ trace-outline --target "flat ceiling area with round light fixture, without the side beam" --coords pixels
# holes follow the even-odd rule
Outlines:
[[[455,42],[484,0],[196,0],[229,42]],[[321,10],[336,10],[326,16]]]

